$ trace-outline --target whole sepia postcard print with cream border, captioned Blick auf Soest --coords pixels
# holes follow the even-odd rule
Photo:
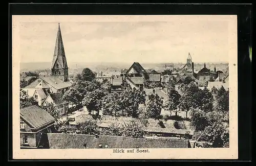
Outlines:
[[[12,20],[18,158],[237,158],[235,15]]]

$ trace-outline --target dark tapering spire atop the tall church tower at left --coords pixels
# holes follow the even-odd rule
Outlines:
[[[57,68],[68,68],[59,23],[52,61],[52,68],[54,68],[56,62],[58,62]]]

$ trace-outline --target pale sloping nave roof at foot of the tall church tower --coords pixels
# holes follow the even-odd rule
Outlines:
[[[40,78],[53,86],[55,89],[62,89],[71,86],[70,82],[63,82],[57,76],[40,76]]]

